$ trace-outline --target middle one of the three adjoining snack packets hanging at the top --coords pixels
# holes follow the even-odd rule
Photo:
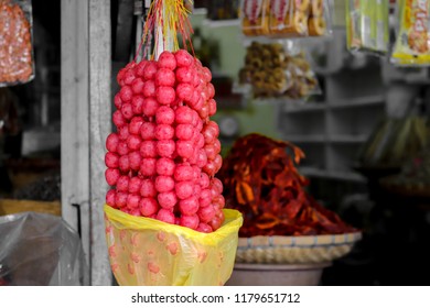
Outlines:
[[[278,37],[308,35],[309,0],[270,0],[270,34]]]

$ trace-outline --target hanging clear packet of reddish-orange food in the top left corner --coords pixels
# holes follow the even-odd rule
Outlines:
[[[0,0],[0,87],[34,78],[31,0]]]

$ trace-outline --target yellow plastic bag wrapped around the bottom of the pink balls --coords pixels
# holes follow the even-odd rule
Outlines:
[[[105,206],[106,239],[119,285],[224,285],[236,257],[243,218],[224,210],[225,222],[203,233]]]

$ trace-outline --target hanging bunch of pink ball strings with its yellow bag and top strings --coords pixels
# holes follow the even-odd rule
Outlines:
[[[154,32],[153,54],[117,76],[105,217],[120,285],[223,285],[233,271],[241,216],[224,209],[215,176],[222,156],[211,70],[179,50],[178,34],[185,48],[191,43],[187,13],[183,1],[152,2],[141,45]]]

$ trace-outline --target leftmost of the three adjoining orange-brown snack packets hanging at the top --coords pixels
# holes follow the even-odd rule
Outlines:
[[[241,30],[247,36],[269,34],[269,1],[241,0]]]

